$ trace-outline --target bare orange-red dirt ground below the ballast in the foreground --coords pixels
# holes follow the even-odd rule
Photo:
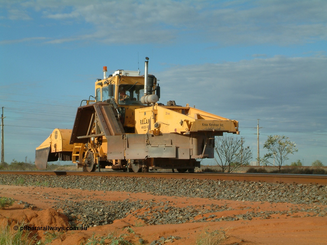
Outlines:
[[[68,193],[68,195],[67,195]],[[10,197],[33,204],[32,207],[24,208],[24,204],[17,202],[5,209],[0,209],[0,226],[11,223],[13,227],[17,221],[24,220],[34,226],[68,226],[68,219],[62,215],[60,210],[52,208],[58,200],[74,197],[72,200],[84,199],[90,196],[88,190],[62,189],[62,188],[43,188],[43,187],[21,187],[0,185],[0,196]],[[151,200],[158,202],[170,201],[174,206],[185,207],[188,205],[225,205],[231,206],[233,210],[215,212],[218,217],[231,216],[233,214],[245,213],[249,211],[285,211],[301,208],[314,208],[318,204],[290,204],[290,203],[268,203],[268,202],[239,202],[230,200],[211,200],[202,198],[181,198],[168,196],[155,196],[148,193],[129,193],[129,192],[111,192],[92,191],[92,199],[117,201],[129,199]],[[88,199],[88,198],[85,198]],[[247,210],[244,210],[245,208]],[[323,206],[325,207],[325,206]],[[39,210],[43,209],[43,210]],[[144,212],[140,210],[139,213]],[[205,214],[209,216],[213,213]],[[309,213],[310,215],[316,215]],[[140,226],[141,220],[137,220],[132,214],[121,220],[116,220],[112,224],[87,228],[87,231],[68,231],[56,237],[51,244],[80,244],[87,241],[88,238],[95,236],[107,236],[109,233],[128,234],[125,239],[139,244],[139,238],[143,238],[148,243],[158,240],[160,237],[178,236],[181,239],[174,240],[173,244],[195,244],[196,239],[204,231],[213,231],[224,229],[228,238],[222,244],[242,244],[242,245],[307,245],[307,244],[327,244],[327,217],[305,217],[307,212],[293,213],[290,216],[286,214],[273,214],[268,219],[254,217],[249,220],[238,221],[220,221],[220,222],[190,222],[183,224],[163,224]],[[131,227],[135,234],[127,232],[125,227]],[[44,239],[44,231],[37,233],[39,238]]]

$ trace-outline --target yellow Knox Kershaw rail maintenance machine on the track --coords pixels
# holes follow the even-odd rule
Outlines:
[[[77,108],[73,129],[55,129],[36,148],[35,165],[72,161],[77,168],[194,172],[197,159],[213,158],[215,136],[239,134],[238,122],[175,101],[158,103],[155,76],[118,70],[95,82],[95,100]],[[91,96],[90,96],[91,97]],[[92,96],[93,97],[93,96]]]

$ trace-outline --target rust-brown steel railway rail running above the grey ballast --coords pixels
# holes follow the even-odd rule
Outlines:
[[[264,174],[264,173],[173,173],[173,172],[78,172],[78,171],[0,171],[0,174],[79,175],[138,178],[209,179],[226,181],[252,181],[285,184],[327,185],[327,175],[314,174]]]

